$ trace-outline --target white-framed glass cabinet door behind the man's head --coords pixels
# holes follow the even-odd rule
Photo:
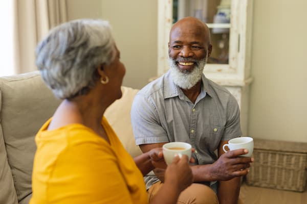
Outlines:
[[[212,54],[204,69],[208,78],[242,78],[246,40],[246,13],[250,0],[159,0],[158,1],[158,74],[168,70],[169,31],[172,24],[194,16],[210,29]],[[249,6],[250,7],[250,6]],[[244,45],[244,46],[243,46]],[[240,74],[240,75],[238,75]]]

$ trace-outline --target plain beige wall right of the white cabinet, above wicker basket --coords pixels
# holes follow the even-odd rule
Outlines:
[[[307,1],[255,0],[249,135],[307,142]]]

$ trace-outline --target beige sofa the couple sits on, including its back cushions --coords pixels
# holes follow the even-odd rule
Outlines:
[[[141,154],[130,124],[130,107],[138,90],[122,87],[123,96],[105,116],[133,157]],[[28,203],[31,195],[34,136],[60,100],[43,84],[39,72],[0,78],[0,203]]]

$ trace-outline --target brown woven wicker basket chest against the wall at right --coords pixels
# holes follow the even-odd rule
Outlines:
[[[246,176],[248,185],[299,192],[305,190],[306,143],[254,139],[253,157],[255,161]]]

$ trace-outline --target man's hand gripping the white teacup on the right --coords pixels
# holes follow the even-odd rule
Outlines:
[[[213,163],[213,177],[218,181],[228,181],[237,176],[244,176],[249,172],[250,163],[254,161],[250,157],[238,157],[248,153],[247,149],[236,149],[221,155]]]

